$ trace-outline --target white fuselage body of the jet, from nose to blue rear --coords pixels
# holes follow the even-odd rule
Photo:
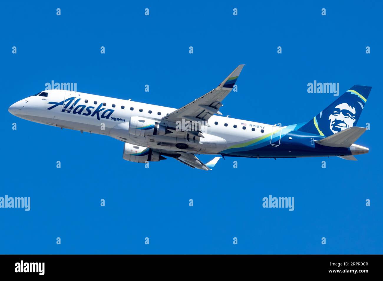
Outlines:
[[[201,154],[216,154],[232,144],[264,136],[274,130],[272,125],[214,115],[208,121],[210,127],[203,126],[205,137],[198,142],[192,139],[185,140],[184,133],[177,132],[169,136],[139,137],[128,132],[131,116],[151,118],[160,122],[161,118],[177,108],[66,90],[44,92],[48,92],[47,97],[27,97],[11,105],[9,111],[29,121],[111,136],[124,142],[154,149],[176,151],[180,149],[177,149],[175,144],[187,143],[188,149],[183,151]],[[70,98],[74,100],[66,109],[66,102],[57,105]],[[56,106],[53,107],[55,103]],[[95,112],[100,105],[102,106],[98,113]]]

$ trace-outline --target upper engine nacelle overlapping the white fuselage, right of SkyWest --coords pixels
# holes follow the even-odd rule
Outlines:
[[[129,134],[135,136],[146,137],[164,135],[166,127],[158,122],[139,116],[132,116],[129,120]]]

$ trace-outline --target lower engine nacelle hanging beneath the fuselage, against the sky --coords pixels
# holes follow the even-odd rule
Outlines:
[[[125,142],[124,153],[122,157],[125,160],[138,163],[145,163],[145,161],[160,161],[165,159],[164,157],[160,156],[160,153],[155,152],[150,148],[128,144],[127,142]]]

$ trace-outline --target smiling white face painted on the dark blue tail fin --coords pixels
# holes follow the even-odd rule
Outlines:
[[[354,125],[355,107],[351,107],[347,103],[341,103],[334,108],[329,116],[330,130],[335,134]]]

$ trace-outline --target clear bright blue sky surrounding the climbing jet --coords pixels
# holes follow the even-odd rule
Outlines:
[[[1,254],[383,254],[380,1],[1,6],[0,197],[31,197],[29,212],[0,209]],[[357,142],[370,153],[358,161],[226,158],[210,172],[168,159],[145,169],[122,159],[118,140],[43,126],[7,110],[51,80],[179,108],[242,63],[238,92],[220,111],[244,120],[308,121],[336,99],[308,94],[314,80],[339,82],[340,94],[355,84],[372,86],[358,121],[371,129]],[[295,210],[262,208],[270,194],[295,197]]]

